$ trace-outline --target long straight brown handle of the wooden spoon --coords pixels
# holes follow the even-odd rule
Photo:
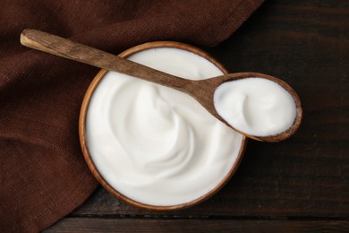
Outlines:
[[[183,78],[106,53],[97,48],[81,45],[72,40],[40,30],[23,30],[21,32],[21,44],[55,56],[63,56],[81,63],[129,74],[149,82],[156,82],[157,84],[172,87],[179,91],[185,91],[185,86],[190,82]]]

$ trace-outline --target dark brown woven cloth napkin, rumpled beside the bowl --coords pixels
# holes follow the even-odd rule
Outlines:
[[[81,154],[81,101],[98,68],[20,45],[44,30],[111,53],[154,40],[215,46],[263,0],[3,0],[0,232],[45,229],[98,186]]]

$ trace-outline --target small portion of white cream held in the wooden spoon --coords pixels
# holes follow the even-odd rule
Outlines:
[[[294,123],[294,99],[277,82],[251,77],[218,86],[215,108],[229,125],[255,136],[285,132]]]

